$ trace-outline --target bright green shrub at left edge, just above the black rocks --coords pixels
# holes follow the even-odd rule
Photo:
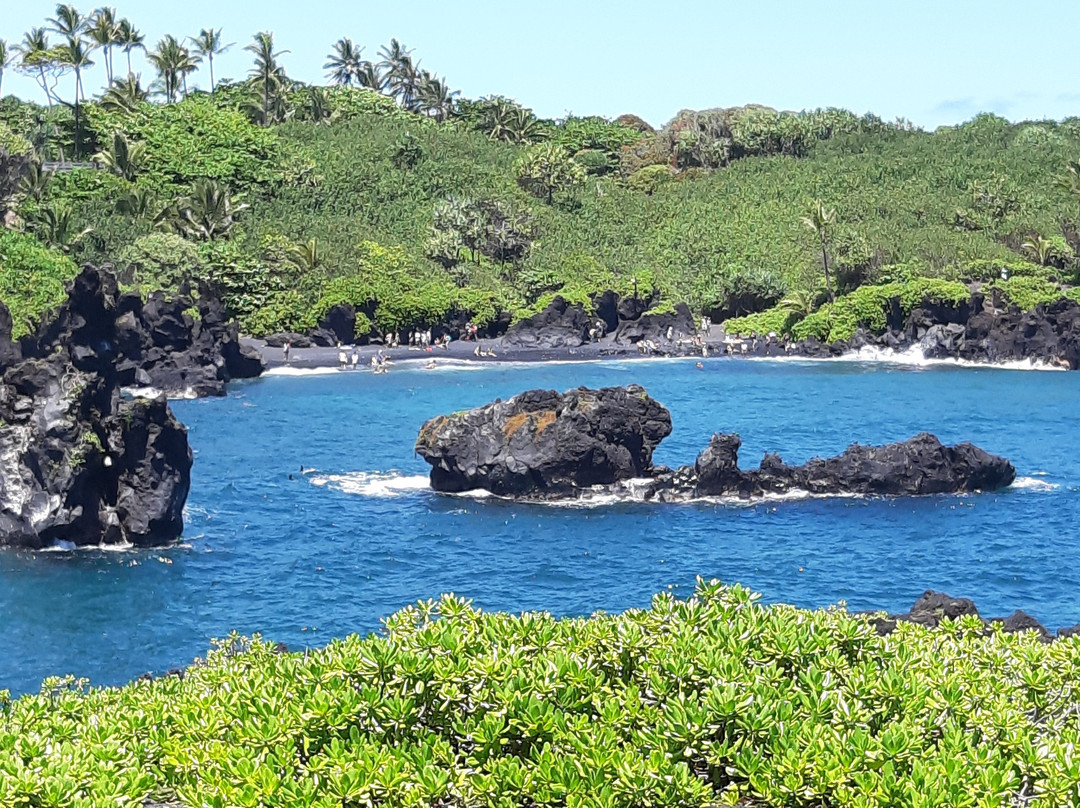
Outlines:
[[[16,338],[67,299],[65,286],[77,273],[75,261],[63,253],[0,227],[0,300],[11,310]]]

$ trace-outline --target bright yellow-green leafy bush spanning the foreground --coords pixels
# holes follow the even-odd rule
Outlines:
[[[444,596],[0,701],[0,805],[1076,806],[1078,683],[1080,639],[977,618],[881,637],[715,582],[588,619]]]

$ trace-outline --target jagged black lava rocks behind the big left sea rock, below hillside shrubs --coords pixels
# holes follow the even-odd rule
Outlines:
[[[110,293],[100,298],[100,307],[87,311],[82,298],[96,288]],[[68,300],[19,340],[19,348],[26,359],[44,359],[57,349],[93,353],[105,335],[122,387],[188,398],[224,395],[226,382],[264,369],[258,353],[240,344],[237,323],[217,298],[154,292],[144,301],[136,294],[120,294],[111,273],[89,265],[72,281]],[[2,356],[0,350],[0,362]]]

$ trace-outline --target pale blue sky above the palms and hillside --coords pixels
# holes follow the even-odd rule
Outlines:
[[[0,38],[17,41],[54,8],[0,0]],[[397,37],[463,95],[508,95],[545,117],[634,112],[662,124],[684,108],[758,103],[838,106],[933,127],[980,111],[1013,120],[1080,113],[1080,69],[1068,46],[1068,32],[1080,30],[1075,0],[117,0],[116,8],[150,43],[224,28],[238,44],[215,65],[219,77],[246,72],[243,45],[257,30],[274,32],[291,51],[289,75],[305,81],[323,79],[340,37],[364,44],[368,58]],[[87,90],[104,84],[100,62]],[[141,59],[139,70],[150,78]],[[10,69],[3,92],[40,97]]]

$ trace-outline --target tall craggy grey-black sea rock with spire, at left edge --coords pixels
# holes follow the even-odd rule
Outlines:
[[[3,371],[0,546],[153,546],[183,530],[187,430],[164,396],[122,396],[118,298],[111,274],[83,270],[53,321],[64,338]]]

